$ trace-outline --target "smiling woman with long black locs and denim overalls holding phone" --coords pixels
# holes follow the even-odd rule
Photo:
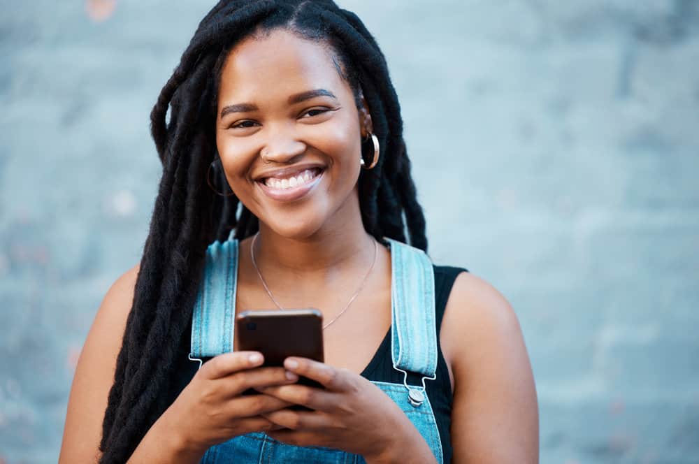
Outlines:
[[[398,100],[356,15],[220,1],[151,117],[164,172],[150,233],[87,336],[62,463],[538,461],[517,318],[421,251]],[[415,266],[424,287],[405,280]],[[325,363],[260,367],[219,346],[199,368],[190,335],[219,272],[236,313],[319,308]]]

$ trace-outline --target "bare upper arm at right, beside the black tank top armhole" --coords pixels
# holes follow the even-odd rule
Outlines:
[[[454,463],[538,463],[534,379],[507,300],[479,277],[461,273],[440,340],[454,378]]]

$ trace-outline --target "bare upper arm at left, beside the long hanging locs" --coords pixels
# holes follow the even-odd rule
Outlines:
[[[137,275],[138,266],[135,266],[114,282],[87,333],[73,376],[60,464],[99,460],[102,420],[114,382],[117,355],[122,347]]]

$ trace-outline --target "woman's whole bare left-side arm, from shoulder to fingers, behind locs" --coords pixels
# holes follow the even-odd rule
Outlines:
[[[107,292],[75,368],[59,464],[95,463],[101,458],[102,421],[124,328],[134,299],[138,267]],[[198,463],[212,444],[272,424],[260,414],[288,407],[269,396],[241,396],[250,388],[296,382],[283,368],[261,368],[264,359],[249,351],[215,356],[147,431],[129,464]],[[183,419],[183,418],[186,418]]]

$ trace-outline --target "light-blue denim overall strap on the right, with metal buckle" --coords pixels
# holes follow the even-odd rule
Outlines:
[[[432,261],[421,249],[387,240],[391,245],[391,359],[406,379],[406,371],[422,375],[424,392],[424,380],[435,379],[437,371]],[[405,386],[413,403],[420,396],[419,389]]]

